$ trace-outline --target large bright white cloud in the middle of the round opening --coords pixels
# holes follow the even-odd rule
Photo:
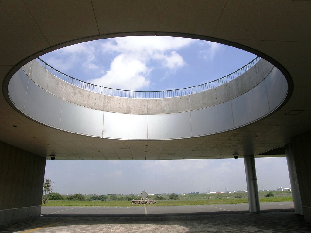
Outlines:
[[[100,86],[141,90],[149,87],[148,77],[156,63],[172,73],[183,65],[183,57],[175,50],[192,43],[192,39],[178,37],[120,37],[102,44],[103,54],[117,53],[110,70],[100,78],[87,82]]]

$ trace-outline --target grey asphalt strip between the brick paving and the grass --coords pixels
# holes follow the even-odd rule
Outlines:
[[[294,211],[293,202],[260,203],[262,212],[269,210]],[[41,215],[44,217],[144,217],[166,215],[200,215],[248,213],[248,203],[192,205],[192,206],[133,206],[133,207],[67,207],[43,206]]]

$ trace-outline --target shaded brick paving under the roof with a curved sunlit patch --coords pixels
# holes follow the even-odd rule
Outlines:
[[[0,227],[1,233],[310,233],[311,224],[294,212],[152,217],[39,217]]]

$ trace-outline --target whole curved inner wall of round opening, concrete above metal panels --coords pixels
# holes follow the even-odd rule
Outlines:
[[[263,59],[225,85],[173,98],[97,94],[58,79],[36,61],[16,72],[8,87],[15,106],[45,125],[132,140],[190,138],[233,130],[273,112],[287,91],[285,77]]]

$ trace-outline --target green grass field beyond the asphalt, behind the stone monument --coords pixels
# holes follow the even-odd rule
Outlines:
[[[276,191],[272,192],[274,197],[264,197],[268,192],[259,192],[260,202],[283,202],[293,201],[291,191]],[[234,196],[241,195],[242,198]],[[168,195],[163,195],[168,199]],[[154,196],[149,196],[148,199],[153,199]],[[86,196],[88,199],[89,196]],[[247,193],[220,193],[220,194],[190,194],[179,195],[179,200],[163,200],[157,201],[156,206],[177,206],[177,205],[215,205],[215,204],[235,204],[248,203]],[[72,201],[72,200],[50,200],[48,204],[43,206],[142,206],[132,205],[131,201]],[[155,206],[155,205],[147,205]]]

